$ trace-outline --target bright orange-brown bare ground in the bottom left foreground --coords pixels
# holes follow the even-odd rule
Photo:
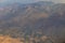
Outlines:
[[[20,39],[13,39],[9,35],[0,35],[0,43],[23,43]]]

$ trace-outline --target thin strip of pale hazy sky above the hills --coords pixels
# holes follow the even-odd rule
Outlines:
[[[65,3],[65,0],[0,0],[0,3],[3,2],[34,2],[34,1],[53,1],[53,2],[63,2]]]

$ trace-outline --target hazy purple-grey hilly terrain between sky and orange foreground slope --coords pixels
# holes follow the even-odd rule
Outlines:
[[[0,34],[24,39],[24,43],[65,43],[65,3],[0,6]]]

